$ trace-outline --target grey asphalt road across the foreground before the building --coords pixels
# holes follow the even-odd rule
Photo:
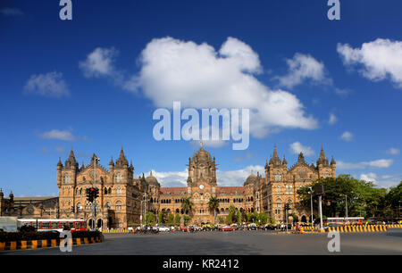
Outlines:
[[[58,248],[0,252],[0,255],[270,255],[402,254],[402,229],[384,233],[340,234],[340,252],[328,252],[327,234],[285,235],[273,231],[105,234],[105,242]]]

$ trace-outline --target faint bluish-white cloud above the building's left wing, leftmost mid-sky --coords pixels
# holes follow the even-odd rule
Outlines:
[[[26,93],[47,97],[69,96],[70,91],[63,80],[63,74],[49,72],[30,76],[24,87]]]

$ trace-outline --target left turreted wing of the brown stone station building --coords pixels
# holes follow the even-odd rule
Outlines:
[[[141,198],[147,184],[144,177],[134,178],[134,167],[122,148],[117,161],[109,162],[109,170],[96,163],[95,154],[87,166],[79,167],[71,150],[64,165],[60,160],[57,163],[57,186],[61,218],[88,219],[90,225],[92,210],[86,189],[96,186],[96,227],[133,227],[140,223]]]

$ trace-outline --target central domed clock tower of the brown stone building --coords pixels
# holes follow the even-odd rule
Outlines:
[[[215,158],[201,148],[188,158],[188,196],[194,204],[192,208],[195,223],[213,222],[214,215],[209,211],[208,202],[216,196],[216,163]]]

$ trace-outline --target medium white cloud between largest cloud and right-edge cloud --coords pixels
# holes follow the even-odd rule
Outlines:
[[[325,67],[323,62],[318,62],[311,55],[295,54],[293,59],[287,59],[289,66],[288,74],[279,79],[282,87],[292,88],[303,81],[310,79],[313,83],[331,84],[332,80],[325,76]]]

